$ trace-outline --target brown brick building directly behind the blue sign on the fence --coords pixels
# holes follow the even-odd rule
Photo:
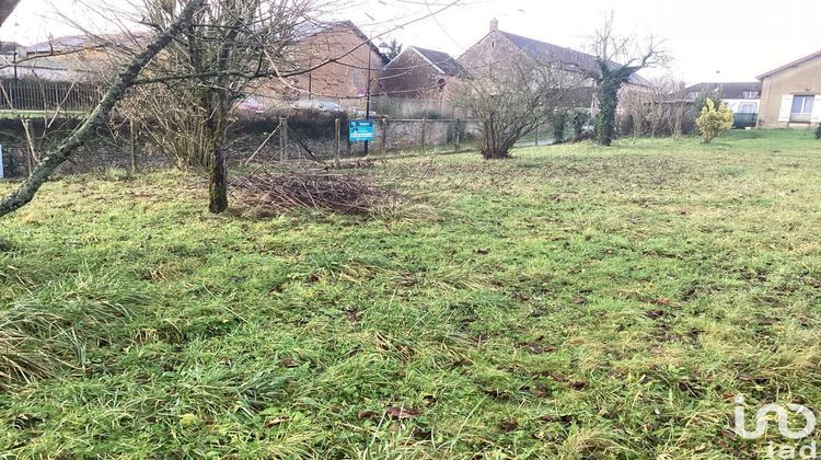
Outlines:
[[[310,23],[298,31],[287,54],[290,70],[304,72],[266,84],[257,95],[273,100],[333,101],[343,107],[360,105],[379,93],[382,67],[388,59],[352,22]]]

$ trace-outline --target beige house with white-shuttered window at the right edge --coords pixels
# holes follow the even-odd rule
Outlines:
[[[821,123],[821,51],[758,77],[759,126],[810,127]]]

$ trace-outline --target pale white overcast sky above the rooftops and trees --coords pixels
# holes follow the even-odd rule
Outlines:
[[[128,1],[105,3],[127,9]],[[373,36],[452,1],[356,0],[342,2],[344,9],[337,8],[336,16],[352,20]],[[104,19],[93,18],[79,4],[77,0],[22,0],[0,28],[0,41],[27,45],[45,41],[49,34],[74,32],[56,20],[51,8],[81,22],[91,21],[93,27],[106,27]],[[820,0],[462,0],[390,36],[405,45],[458,57],[487,33],[493,18],[498,18],[502,31],[583,50],[609,11],[614,12],[622,34],[664,38],[674,58],[673,72],[687,83],[752,81],[760,73],[821,49]]]

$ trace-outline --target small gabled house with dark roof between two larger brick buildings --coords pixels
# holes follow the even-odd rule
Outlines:
[[[382,91],[395,97],[442,97],[449,83],[464,72],[450,55],[409,46],[382,69]]]

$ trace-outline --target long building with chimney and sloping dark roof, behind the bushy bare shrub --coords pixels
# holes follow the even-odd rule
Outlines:
[[[490,31],[460,56],[458,61],[463,68],[471,69],[470,71],[482,68],[493,71],[502,68],[510,57],[522,55],[537,61],[557,61],[565,70],[585,76],[583,91],[578,92],[574,99],[578,107],[594,110],[595,84],[586,74],[599,71],[595,56],[500,31],[499,21],[496,19],[490,21]],[[612,66],[618,65],[612,62]],[[633,74],[629,82],[622,88],[622,92],[646,92],[649,87],[647,80],[639,74]]]

